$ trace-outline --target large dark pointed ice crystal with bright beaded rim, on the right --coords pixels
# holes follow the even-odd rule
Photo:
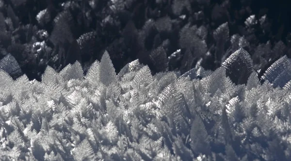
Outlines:
[[[226,75],[235,84],[245,84],[253,72],[253,61],[249,53],[240,48],[231,54],[222,64],[226,68]]]

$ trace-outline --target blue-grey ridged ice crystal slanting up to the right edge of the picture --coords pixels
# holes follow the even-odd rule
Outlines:
[[[262,76],[263,80],[268,80],[273,83],[275,79],[282,73],[288,66],[291,66],[291,60],[284,55],[282,58],[278,59],[273,63]]]

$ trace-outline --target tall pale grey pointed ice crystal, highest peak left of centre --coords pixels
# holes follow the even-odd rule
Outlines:
[[[100,81],[109,86],[110,83],[116,82],[117,77],[109,53],[105,50],[100,62]]]

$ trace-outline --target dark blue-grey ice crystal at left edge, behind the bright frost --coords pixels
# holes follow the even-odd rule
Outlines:
[[[10,74],[14,79],[23,74],[16,59],[11,54],[7,54],[0,60],[0,69]]]

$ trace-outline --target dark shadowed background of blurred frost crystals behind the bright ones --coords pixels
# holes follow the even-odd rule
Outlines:
[[[15,58],[14,78],[41,81],[47,65],[60,71],[79,61],[86,73],[105,49],[117,73],[139,59],[153,74],[183,74],[200,59],[214,70],[244,48],[261,77],[291,57],[286,1],[0,0],[0,59]]]

